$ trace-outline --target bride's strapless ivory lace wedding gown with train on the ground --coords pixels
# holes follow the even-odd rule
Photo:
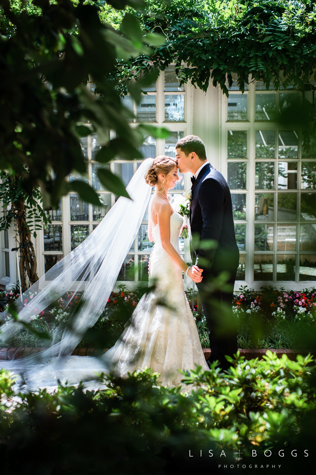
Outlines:
[[[180,254],[179,232],[182,217],[174,212],[170,217],[170,240]],[[49,362],[28,370],[20,383],[27,389],[45,387],[51,390],[57,380],[88,388],[100,387],[96,373],[113,372],[127,377],[145,367],[161,374],[159,383],[178,386],[183,376],[178,370],[208,370],[195,321],[183,290],[182,271],[163,249],[158,225],[152,230],[155,241],[149,260],[149,285],[155,290],[143,295],[125,330],[116,344],[102,356],[69,356],[58,364]]]

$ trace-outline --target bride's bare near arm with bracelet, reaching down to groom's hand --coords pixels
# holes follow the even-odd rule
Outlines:
[[[171,257],[171,259],[180,267],[181,271],[184,273],[187,270],[187,265],[181,259],[181,256],[178,254],[174,246],[170,242],[170,204],[163,203],[157,209],[157,218],[158,218],[158,227],[160,233],[160,240],[163,249]],[[192,279],[191,271],[189,277]],[[200,282],[200,280],[195,280],[195,282]]]

